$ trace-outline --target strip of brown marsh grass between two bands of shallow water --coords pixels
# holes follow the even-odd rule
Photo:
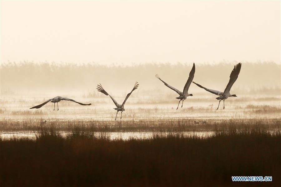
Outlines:
[[[80,129],[92,132],[183,132],[183,131],[215,131],[228,128],[253,128],[279,129],[281,118],[232,118],[232,119],[204,119],[204,118],[173,118],[151,120],[58,120],[30,118],[25,120],[2,119],[0,131],[40,131],[50,128],[57,131],[73,131]]]

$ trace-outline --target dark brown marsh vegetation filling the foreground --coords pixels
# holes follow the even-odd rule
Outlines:
[[[0,140],[0,185],[280,186],[280,158],[280,129],[128,141],[45,131],[36,140]],[[272,176],[273,181],[232,182],[231,176]]]

